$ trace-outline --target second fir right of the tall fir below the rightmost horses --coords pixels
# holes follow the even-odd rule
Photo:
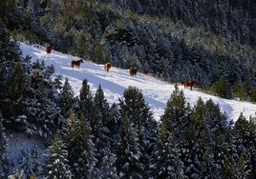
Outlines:
[[[228,122],[225,113],[212,100],[206,101],[203,117],[206,128],[204,127],[204,131],[201,133],[202,137],[200,139],[203,142],[200,146],[202,146],[201,148],[207,146],[207,149],[211,150],[209,153],[212,156],[212,166],[207,166],[208,170],[205,170],[204,173],[208,173],[207,175],[210,177],[238,177],[236,175],[237,171],[242,174],[241,165],[247,161],[243,159],[243,162],[241,161],[242,163],[238,165],[239,157],[242,156],[240,149],[244,147],[236,142],[236,136],[231,128],[232,121]],[[247,172],[246,169],[243,173],[244,176],[245,172]]]

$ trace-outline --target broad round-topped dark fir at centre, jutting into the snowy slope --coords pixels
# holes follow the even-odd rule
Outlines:
[[[129,87],[123,93],[124,99],[119,100],[120,115],[128,115],[131,123],[135,125],[139,136],[140,162],[143,164],[143,177],[149,169],[149,163],[153,156],[153,150],[157,143],[158,124],[153,118],[152,111],[146,104],[141,90],[136,87]]]

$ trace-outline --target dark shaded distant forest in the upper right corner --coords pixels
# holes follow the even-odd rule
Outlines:
[[[100,1],[100,0],[99,0]],[[231,40],[255,47],[256,3],[253,0],[102,0],[138,13],[168,16],[187,26],[203,26]],[[102,2],[101,1],[101,2]]]

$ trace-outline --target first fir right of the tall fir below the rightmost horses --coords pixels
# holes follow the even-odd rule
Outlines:
[[[207,109],[203,100],[200,98],[194,108],[192,120],[187,128],[187,143],[186,148],[186,174],[189,177],[210,177],[215,178],[220,175],[220,169],[214,161],[214,138],[216,133],[213,133],[212,127],[207,123],[206,119]]]

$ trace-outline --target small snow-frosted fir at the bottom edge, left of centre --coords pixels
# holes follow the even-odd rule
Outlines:
[[[47,166],[45,169],[46,178],[73,178],[69,166],[67,146],[62,140],[59,132],[56,132],[53,145],[47,151],[50,153],[46,156]]]

